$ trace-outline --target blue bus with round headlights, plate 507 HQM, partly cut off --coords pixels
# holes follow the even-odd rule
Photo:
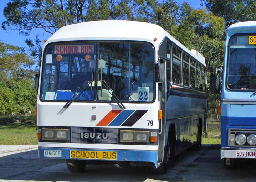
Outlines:
[[[231,25],[226,32],[221,92],[221,161],[256,158],[256,21]]]

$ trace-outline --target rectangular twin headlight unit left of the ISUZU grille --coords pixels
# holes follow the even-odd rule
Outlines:
[[[68,140],[69,130],[68,129],[42,129],[43,140]]]

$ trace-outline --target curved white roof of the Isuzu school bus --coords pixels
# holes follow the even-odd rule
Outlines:
[[[172,37],[162,27],[137,21],[103,20],[67,25],[55,32],[47,40],[43,48],[48,43],[62,41],[130,40],[150,42],[157,49],[165,37],[168,37],[177,46],[205,66],[205,58],[199,52],[195,50],[189,51],[188,48]],[[157,41],[154,42],[154,38],[157,38]]]

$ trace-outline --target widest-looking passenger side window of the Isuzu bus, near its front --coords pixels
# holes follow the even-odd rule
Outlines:
[[[173,46],[173,82],[176,84],[181,84],[181,51]]]

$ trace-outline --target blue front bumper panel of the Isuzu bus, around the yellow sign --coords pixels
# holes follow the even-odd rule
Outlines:
[[[61,150],[61,157],[45,157],[44,150]],[[62,149],[62,148],[38,148],[39,158],[51,158],[51,159],[70,159],[70,151],[108,151],[117,152],[117,160],[115,161],[138,161],[138,162],[153,162],[157,167],[158,151],[144,151],[144,150],[96,150],[96,149]],[[86,159],[95,160],[95,159]],[[106,161],[106,160],[104,160]]]

